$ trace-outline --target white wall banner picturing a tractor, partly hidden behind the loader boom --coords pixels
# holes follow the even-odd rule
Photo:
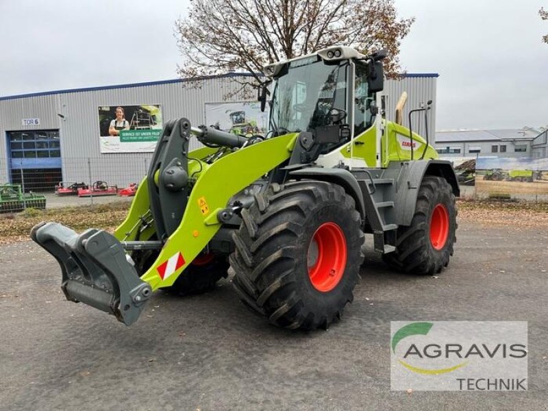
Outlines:
[[[206,103],[206,125],[219,127],[225,132],[264,136],[268,124],[269,113],[261,112],[258,101]]]

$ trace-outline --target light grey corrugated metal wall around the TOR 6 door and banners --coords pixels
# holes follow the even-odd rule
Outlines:
[[[152,153],[101,154],[97,138],[97,109],[100,105],[160,104],[164,123],[169,119],[185,116],[191,123],[199,125],[205,121],[204,104],[223,101],[226,93],[229,90],[236,90],[237,87],[238,84],[231,82],[231,79],[217,77],[207,79],[201,88],[189,88],[182,82],[160,82],[0,99],[0,182],[9,180],[6,132],[22,129],[60,129],[63,178],[67,181],[88,182],[90,179],[106,179],[105,175],[112,175],[107,171],[116,169],[116,181],[109,181],[110,183],[125,185],[136,182],[145,174],[146,164]],[[429,113],[429,129],[434,130],[436,77],[404,77],[398,81],[386,82],[384,94],[388,96],[388,119],[394,119],[394,106],[403,90],[409,94],[407,109],[417,108],[421,102],[428,99],[434,100]],[[58,114],[62,114],[64,119]],[[21,120],[29,118],[39,118],[40,126],[23,127]],[[414,121],[414,129],[419,131],[419,119]],[[407,125],[407,120],[404,124]],[[190,148],[198,147],[198,144],[197,140],[193,139]]]

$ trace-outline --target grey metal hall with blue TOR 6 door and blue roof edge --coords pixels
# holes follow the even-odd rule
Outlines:
[[[162,122],[184,116],[200,125],[209,121],[206,108],[246,104],[238,97],[225,99],[238,87],[233,77],[245,75],[206,77],[198,87],[195,80],[175,79],[0,97],[0,184],[24,182],[25,190],[53,191],[60,181],[139,182]],[[388,80],[383,92],[388,119],[394,119],[394,106],[405,90],[406,110],[434,101],[428,116],[429,129],[435,130],[437,77],[406,74]],[[125,109],[121,121],[116,118],[119,108]],[[225,116],[232,116],[234,123],[242,121],[242,112]],[[406,111],[403,119],[407,116]],[[414,130],[421,131],[423,119],[413,121]],[[113,124],[120,130],[113,131]],[[199,142],[191,140],[190,149],[196,147]]]

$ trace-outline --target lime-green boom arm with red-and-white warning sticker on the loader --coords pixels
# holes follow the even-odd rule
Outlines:
[[[227,209],[230,197],[287,160],[295,145],[295,138],[295,134],[287,134],[250,145],[210,164],[206,173],[199,173],[188,197],[181,223],[164,242],[156,263],[141,278],[153,290],[171,286],[186,266],[206,248],[227,216],[232,213],[232,210]],[[192,153],[188,156],[192,157]],[[156,189],[153,186],[152,190]],[[128,225],[136,224],[140,215],[130,212],[128,219]],[[184,263],[177,266],[173,273],[167,271],[168,275],[159,275],[163,264],[167,262],[166,268],[171,268],[170,259],[179,256],[179,253]]]

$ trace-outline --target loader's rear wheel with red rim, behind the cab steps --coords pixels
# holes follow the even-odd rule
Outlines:
[[[440,217],[445,212],[447,215]],[[453,256],[458,227],[456,216],[451,185],[442,177],[425,176],[416,199],[411,225],[398,228],[396,251],[384,254],[384,262],[408,274],[440,273]],[[441,234],[445,230],[440,231],[435,224],[440,218],[447,224],[447,234]]]

